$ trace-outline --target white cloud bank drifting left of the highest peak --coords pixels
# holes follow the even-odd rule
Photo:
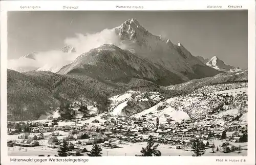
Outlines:
[[[115,44],[120,48],[125,48],[120,37],[116,34],[115,29],[105,29],[95,34],[76,34],[76,37],[67,38],[64,45],[75,47],[76,52],[63,52],[61,50],[49,50],[33,54],[33,59],[19,58],[8,61],[8,68],[17,71],[29,70],[48,70],[58,71],[61,67],[72,63],[81,53],[88,52],[103,44]]]

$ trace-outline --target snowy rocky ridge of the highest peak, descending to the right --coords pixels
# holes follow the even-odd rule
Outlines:
[[[138,56],[152,60],[153,63],[158,63],[176,74],[186,71],[193,73],[191,66],[203,66],[203,63],[191,56],[191,53],[180,43],[178,48],[170,39],[162,40],[161,37],[143,28],[136,19],[126,20],[114,30],[126,44],[125,49],[133,49]]]

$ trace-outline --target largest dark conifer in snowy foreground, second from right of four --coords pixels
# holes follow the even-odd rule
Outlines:
[[[147,142],[147,146],[146,148],[142,147],[142,150],[140,151],[142,154],[141,156],[161,156],[161,152],[159,150],[157,150],[157,147],[159,146],[159,144],[156,144],[154,146],[154,141],[152,139],[152,137],[150,136],[150,139]]]

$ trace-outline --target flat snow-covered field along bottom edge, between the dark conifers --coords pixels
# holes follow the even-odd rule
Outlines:
[[[219,146],[224,141],[214,141],[215,146]],[[135,156],[136,154],[140,155],[140,150],[142,147],[146,147],[146,142],[143,143],[125,143],[125,144],[118,144],[120,148],[113,148],[113,149],[106,149],[102,148],[102,156]],[[232,143],[230,143],[232,144]],[[233,143],[234,146],[239,146],[241,145],[242,149],[247,149],[247,143]],[[191,151],[184,151],[181,149],[170,149],[170,145],[164,145],[160,144],[158,147],[158,150],[161,152],[162,156],[192,156],[193,152]],[[31,147],[31,148],[26,148],[22,147],[22,149],[19,151],[20,147],[8,147],[8,155],[10,156],[38,156],[41,154],[50,155],[54,156],[55,154],[57,155],[57,150],[56,149],[51,149],[48,147]],[[86,148],[90,151],[92,149],[92,145],[86,146]],[[27,151],[26,151],[27,149]],[[221,153],[221,152],[216,152],[216,153],[210,153],[211,149],[206,149],[206,152],[203,156],[246,156],[247,155],[247,150],[242,150],[241,153],[236,152],[231,152],[231,153]],[[216,151],[216,149],[215,149]],[[84,156],[87,156],[86,153],[82,153]]]

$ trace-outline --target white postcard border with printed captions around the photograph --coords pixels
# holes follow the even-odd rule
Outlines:
[[[143,9],[117,9],[120,6],[143,6]],[[209,9],[207,5],[219,5],[221,9]],[[32,10],[63,10],[63,6],[78,6],[78,9],[68,10],[241,10],[229,9],[228,5],[242,5],[243,10],[248,10],[248,155],[241,156],[162,156],[162,157],[87,157],[89,164],[227,164],[216,162],[216,159],[246,159],[246,162],[234,164],[255,164],[255,1],[1,1],[1,164],[11,164],[7,155],[7,11],[28,11],[20,9],[20,6],[40,6],[40,9]],[[67,10],[67,9],[66,9]],[[25,158],[15,157],[15,158]],[[27,157],[26,157],[27,158]],[[29,157],[38,158],[38,157]],[[26,164],[29,162],[26,162]],[[34,163],[33,164],[40,164]],[[58,164],[71,164],[61,162]],[[76,162],[78,163],[78,162]],[[231,162],[228,162],[228,164]],[[12,164],[24,164],[24,162],[12,162]],[[47,162],[51,164],[51,162]],[[56,163],[55,163],[56,164]]]

